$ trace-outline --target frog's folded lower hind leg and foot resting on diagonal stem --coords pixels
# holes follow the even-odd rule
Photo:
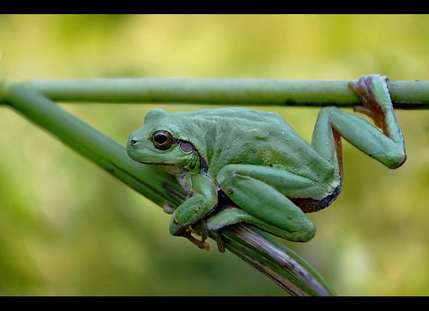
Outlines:
[[[221,189],[243,210],[230,209],[213,216],[207,224],[209,229],[247,222],[291,241],[311,239],[315,227],[304,212],[273,186],[243,174],[252,168],[263,167],[228,165],[219,172]],[[266,169],[273,172],[271,168]],[[297,179],[297,182],[305,184],[303,180]]]

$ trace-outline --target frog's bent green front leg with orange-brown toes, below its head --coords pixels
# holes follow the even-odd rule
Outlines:
[[[192,178],[192,188],[195,194],[184,201],[174,211],[170,218],[170,233],[183,236],[200,248],[209,249],[202,236],[199,241],[192,237],[194,230],[191,225],[209,214],[218,204],[218,190],[213,181],[207,176],[198,174]]]

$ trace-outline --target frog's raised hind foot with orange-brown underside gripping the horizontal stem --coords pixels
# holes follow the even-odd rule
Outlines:
[[[376,79],[378,83],[374,83]],[[386,136],[389,136],[386,114],[393,112],[393,106],[389,96],[387,80],[388,78],[382,75],[362,76],[357,83],[353,81],[349,82],[348,87],[360,98],[363,105],[354,106],[353,111],[370,117],[374,121],[374,124],[381,128]],[[384,92],[374,91],[374,87],[384,88]],[[379,98],[380,95],[385,95],[386,98]]]

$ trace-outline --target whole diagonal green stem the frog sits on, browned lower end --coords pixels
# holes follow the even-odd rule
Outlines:
[[[62,110],[28,86],[4,78],[0,102],[44,128],[88,160],[158,205],[176,208],[185,192],[167,173],[132,161],[125,146]],[[328,283],[295,252],[266,233],[243,225],[220,231],[224,246],[292,295],[335,295]]]

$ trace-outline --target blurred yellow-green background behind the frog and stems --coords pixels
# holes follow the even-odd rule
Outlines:
[[[0,78],[429,80],[420,15],[0,15]],[[155,107],[61,104],[125,144]],[[204,106],[207,108],[207,106]],[[256,107],[258,109],[258,107]],[[318,108],[264,107],[310,140]],[[351,111],[351,110],[349,110]],[[344,184],[285,242],[339,295],[429,293],[429,111],[397,111],[398,170],[344,143]],[[0,295],[285,295],[231,253],[168,232],[169,216],[0,107]]]

